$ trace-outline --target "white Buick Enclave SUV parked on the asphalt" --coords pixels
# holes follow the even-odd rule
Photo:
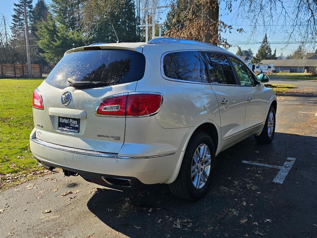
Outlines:
[[[172,38],[68,50],[33,92],[30,148],[45,168],[112,187],[203,196],[215,156],[274,137],[276,97],[236,55]]]

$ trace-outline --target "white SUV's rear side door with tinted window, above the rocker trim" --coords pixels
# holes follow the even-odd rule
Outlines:
[[[226,54],[206,52],[211,89],[216,94],[221,121],[221,149],[239,140],[244,131],[245,99]]]

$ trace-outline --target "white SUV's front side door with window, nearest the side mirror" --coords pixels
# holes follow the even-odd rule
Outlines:
[[[230,60],[245,96],[245,129],[257,130],[262,127],[267,111],[264,85],[256,83],[255,75],[237,57],[230,56]]]

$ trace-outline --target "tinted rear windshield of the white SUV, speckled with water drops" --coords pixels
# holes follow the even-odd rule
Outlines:
[[[66,54],[46,78],[50,85],[64,89],[78,82],[130,83],[143,78],[145,56],[132,50],[84,50]]]

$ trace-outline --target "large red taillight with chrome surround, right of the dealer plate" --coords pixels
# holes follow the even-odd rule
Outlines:
[[[99,115],[143,116],[155,113],[161,105],[159,94],[131,94],[117,96],[102,101],[98,108]]]

